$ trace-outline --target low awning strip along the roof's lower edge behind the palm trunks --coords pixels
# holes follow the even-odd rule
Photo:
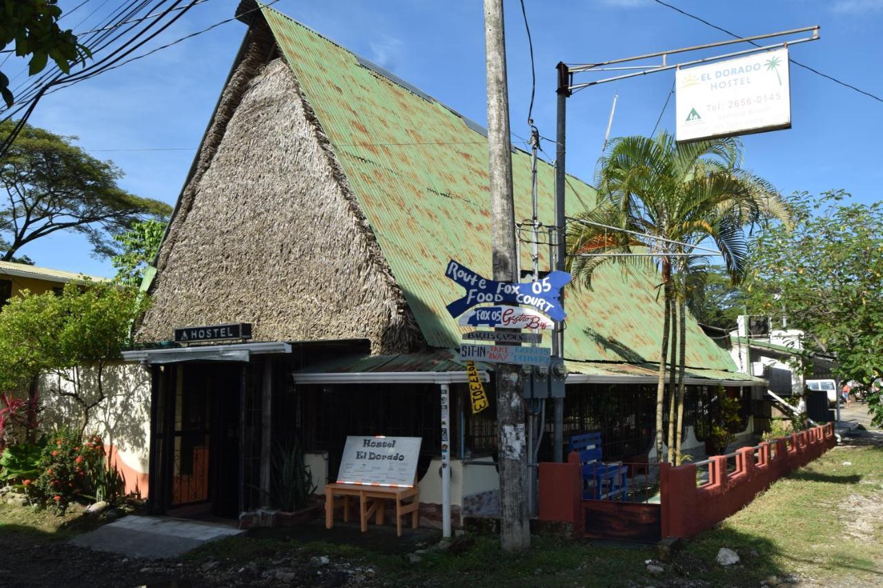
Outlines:
[[[599,361],[565,361],[567,383],[597,384],[653,384],[658,378],[658,366],[654,364],[624,364]],[[666,372],[668,381],[668,371]],[[691,385],[766,386],[766,380],[745,373],[725,370],[688,367],[684,381]]]

